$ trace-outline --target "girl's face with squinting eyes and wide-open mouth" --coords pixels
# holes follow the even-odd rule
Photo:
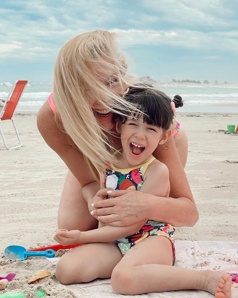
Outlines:
[[[127,118],[121,127],[121,145],[129,166],[149,160],[157,146],[168,140],[169,131],[143,122],[143,117],[138,120]]]

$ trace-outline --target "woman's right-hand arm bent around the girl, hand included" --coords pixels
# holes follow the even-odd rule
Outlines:
[[[163,162],[169,170],[170,197],[138,191],[115,191],[110,194],[113,200],[104,200],[94,204],[95,215],[102,222],[113,226],[128,226],[143,218],[160,222],[169,222],[175,227],[192,227],[198,221],[198,210],[193,200],[187,177],[178,156],[173,137],[168,149],[159,145],[153,155]],[[107,208],[110,207],[110,212]]]

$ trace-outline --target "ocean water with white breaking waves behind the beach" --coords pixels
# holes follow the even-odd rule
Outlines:
[[[6,99],[11,83],[0,83],[0,99]],[[179,94],[185,100],[179,113],[238,113],[238,85],[181,85],[161,83],[157,87],[171,98]],[[52,92],[52,83],[28,83],[16,112],[37,112]],[[233,105],[232,105],[233,104]],[[234,106],[234,104],[236,104]],[[214,106],[212,106],[214,105]],[[219,106],[222,105],[222,106]],[[227,105],[227,106],[223,106]]]

